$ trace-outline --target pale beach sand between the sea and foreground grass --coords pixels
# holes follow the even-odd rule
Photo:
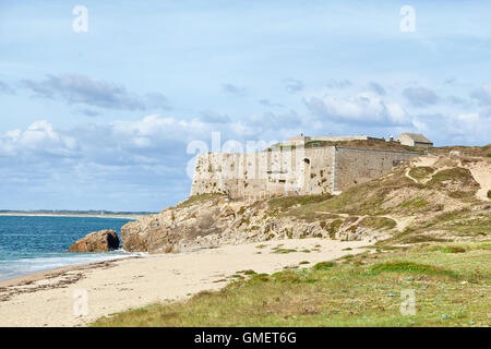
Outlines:
[[[296,249],[273,253],[272,248]],[[313,265],[364,251],[367,241],[301,239],[224,245],[69,266],[0,281],[0,326],[84,326],[94,320],[159,301],[178,301],[219,289],[238,270],[273,273],[308,261]],[[258,248],[266,245],[263,248]],[[300,252],[318,245],[320,252]],[[320,246],[319,246],[320,245]],[[346,248],[352,250],[344,251]],[[261,253],[259,253],[261,252]],[[87,315],[75,316],[76,292],[86,291]]]

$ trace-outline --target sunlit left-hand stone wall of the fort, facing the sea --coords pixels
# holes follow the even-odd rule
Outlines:
[[[200,154],[191,195],[230,193],[233,198],[330,193],[334,147],[244,154]]]

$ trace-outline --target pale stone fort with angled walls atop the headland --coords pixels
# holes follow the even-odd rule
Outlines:
[[[328,144],[360,140],[385,142],[369,136],[301,135],[261,152],[199,154],[191,195],[226,193],[233,200],[255,201],[280,195],[338,194],[421,155],[409,151],[315,146],[316,141]]]

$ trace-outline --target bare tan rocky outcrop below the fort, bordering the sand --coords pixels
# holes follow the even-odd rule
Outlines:
[[[121,228],[121,242],[129,252],[170,253],[279,239],[360,240],[378,234],[370,229],[354,229],[349,220],[342,224],[345,219],[338,216],[306,221],[277,214],[267,202],[247,204],[215,197],[128,222]]]

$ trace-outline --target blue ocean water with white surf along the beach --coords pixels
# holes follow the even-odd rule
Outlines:
[[[0,280],[72,264],[134,255],[124,251],[67,252],[92,231],[120,229],[127,218],[0,216]]]

